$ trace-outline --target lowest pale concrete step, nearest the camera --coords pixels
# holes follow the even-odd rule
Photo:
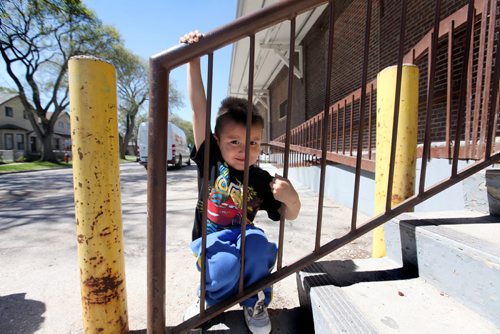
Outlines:
[[[318,262],[298,275],[315,333],[500,333],[500,327],[388,259]]]

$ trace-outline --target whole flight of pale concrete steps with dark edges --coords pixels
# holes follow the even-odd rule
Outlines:
[[[316,333],[500,333],[500,217],[409,213],[384,228],[385,258],[297,274]]]

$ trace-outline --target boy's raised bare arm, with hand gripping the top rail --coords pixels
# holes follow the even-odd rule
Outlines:
[[[181,43],[193,44],[202,38],[202,33],[195,30],[180,38]],[[205,88],[201,78],[200,58],[191,60],[187,64],[187,88],[189,102],[193,112],[193,136],[194,145],[198,150],[205,140],[205,121],[207,98],[205,96]]]

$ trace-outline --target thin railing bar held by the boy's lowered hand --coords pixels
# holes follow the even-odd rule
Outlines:
[[[288,155],[290,154],[290,127],[293,105],[293,78],[295,67],[295,17],[290,19],[290,50],[288,55],[288,104],[286,111],[286,138],[285,138],[285,165],[283,166],[283,177],[288,178]],[[278,237],[278,263],[277,269],[281,269],[283,263],[283,240],[285,237],[285,217],[280,218],[280,229]]]

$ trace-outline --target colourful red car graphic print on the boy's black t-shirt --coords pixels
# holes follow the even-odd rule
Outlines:
[[[248,187],[247,223],[251,223],[259,209],[261,200],[255,197],[253,188]],[[229,167],[219,164],[219,176],[210,189],[207,218],[221,227],[238,226],[243,219],[243,185],[231,182]]]

